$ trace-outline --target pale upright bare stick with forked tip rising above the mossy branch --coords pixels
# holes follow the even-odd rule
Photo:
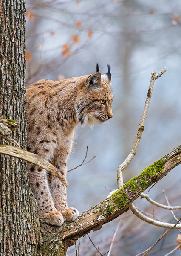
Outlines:
[[[158,74],[156,74],[155,71],[152,73],[151,80],[150,80],[150,85],[149,85],[149,88],[148,88],[147,98],[146,98],[145,105],[144,105],[144,110],[143,110],[143,113],[142,113],[142,116],[141,116],[141,121],[140,121],[140,124],[139,124],[138,132],[136,134],[136,139],[135,139],[133,148],[132,148],[130,154],[124,160],[124,162],[119,165],[118,170],[117,170],[117,183],[118,183],[118,188],[119,189],[122,188],[122,186],[124,185],[123,184],[123,179],[122,179],[122,172],[126,168],[126,166],[131,162],[133,157],[136,155],[136,151],[138,149],[139,142],[141,140],[141,135],[144,131],[144,123],[145,123],[145,120],[147,118],[147,112],[148,112],[148,108],[149,108],[149,105],[150,105],[150,100],[151,100],[151,95],[152,95],[152,91],[153,91],[154,82],[158,77],[160,77],[165,72],[166,72],[166,68],[164,67],[163,70],[161,70]]]

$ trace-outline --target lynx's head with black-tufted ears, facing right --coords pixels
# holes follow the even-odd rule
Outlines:
[[[113,116],[111,104],[113,94],[110,89],[111,73],[101,75],[99,64],[96,65],[96,73],[90,76],[82,76],[79,80],[79,93],[76,100],[76,116],[82,125],[88,123],[102,124]]]

